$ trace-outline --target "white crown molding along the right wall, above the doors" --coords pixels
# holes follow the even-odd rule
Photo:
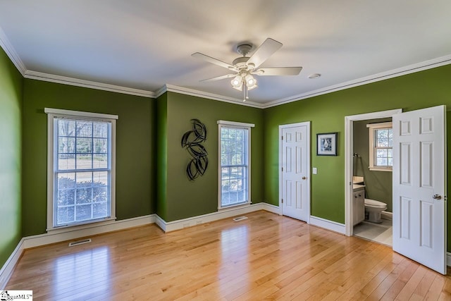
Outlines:
[[[381,80],[388,80],[389,78],[397,78],[398,76],[407,75],[410,73],[416,73],[423,70],[428,70],[432,68],[437,68],[440,66],[449,65],[451,63],[451,55],[442,56],[437,59],[432,59],[429,61],[424,61],[421,63],[414,63],[409,66],[404,66],[401,68],[388,70],[383,73],[377,73],[373,75],[366,76],[365,78],[357,78],[357,80],[350,80],[348,82],[342,82],[338,85],[332,85],[329,87],[323,87],[319,90],[310,91],[303,94],[293,95],[291,97],[286,97],[283,99],[276,99],[272,102],[267,102],[262,106],[263,109],[271,108],[271,106],[280,106],[281,104],[288,104],[290,102],[297,102],[298,100],[307,99],[310,97],[316,97],[322,94],[328,94],[340,90],[349,89],[352,87],[358,87],[361,85],[366,85],[371,82],[378,82]]]

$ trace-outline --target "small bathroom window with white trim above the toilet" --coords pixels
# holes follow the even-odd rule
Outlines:
[[[371,123],[369,128],[370,171],[392,171],[393,128],[391,122]]]

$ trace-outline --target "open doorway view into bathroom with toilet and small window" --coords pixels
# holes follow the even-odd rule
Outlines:
[[[354,121],[352,133],[353,235],[390,247],[393,245],[391,122],[391,117]]]

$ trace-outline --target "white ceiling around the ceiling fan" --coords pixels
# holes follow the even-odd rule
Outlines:
[[[199,82],[228,70],[191,54],[231,63],[238,42],[271,37],[283,47],[261,67],[303,70],[258,78],[249,104],[268,106],[451,63],[450,12],[450,0],[0,0],[0,44],[28,78],[240,102],[230,80]]]

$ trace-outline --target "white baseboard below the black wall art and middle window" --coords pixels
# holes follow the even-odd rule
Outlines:
[[[247,214],[253,211],[266,210],[276,214],[280,214],[280,209],[278,206],[274,206],[266,203],[256,203],[249,204],[242,207],[233,207],[230,209],[222,209],[221,211],[212,212],[209,214],[193,216],[187,219],[178,219],[177,221],[164,221],[161,217],[156,216],[155,223],[164,232],[171,232],[180,230],[183,228],[188,228],[192,226],[197,226],[202,223],[211,223],[212,221],[218,221],[220,219],[228,219],[232,216],[237,216],[241,214]]]

